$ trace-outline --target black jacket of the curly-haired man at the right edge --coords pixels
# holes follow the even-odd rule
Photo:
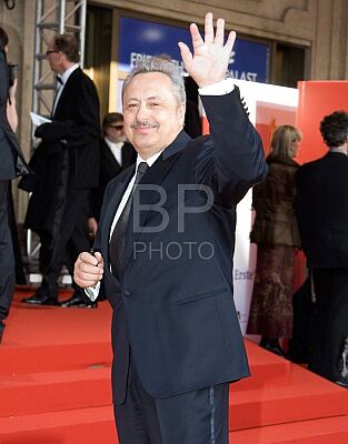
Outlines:
[[[297,213],[311,268],[348,266],[348,157],[329,152],[298,173]]]

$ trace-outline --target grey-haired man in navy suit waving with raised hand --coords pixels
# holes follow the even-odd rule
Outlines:
[[[125,81],[137,174],[130,168],[110,182],[95,255],[81,253],[74,268],[90,297],[105,291],[113,307],[121,444],[227,444],[229,383],[249,374],[232,297],[236,204],[267,167],[238,90],[225,80],[236,34],[223,46],[223,28],[219,19],[215,36],[208,13],[205,40],[190,27],[195,54],[179,43],[210,137],[183,131],[183,80],[170,61],[153,58]]]

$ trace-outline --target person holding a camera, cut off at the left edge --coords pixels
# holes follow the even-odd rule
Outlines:
[[[18,124],[16,111],[17,79],[13,65],[7,62],[9,38],[0,28],[0,342],[3,321],[9,314],[16,264],[10,229],[11,180],[28,173],[23,154],[14,134]]]

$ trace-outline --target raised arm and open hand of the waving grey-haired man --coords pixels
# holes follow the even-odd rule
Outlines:
[[[231,79],[225,80],[236,33],[230,32],[223,44],[225,20],[217,20],[215,32],[211,12],[205,19],[205,39],[195,23],[190,32],[193,54],[185,43],[179,42],[179,47],[188,73],[200,87],[210,124],[210,138],[205,139],[198,155],[195,179],[213,190],[217,202],[235,205],[267,173],[261,139],[249,121],[238,88]]]

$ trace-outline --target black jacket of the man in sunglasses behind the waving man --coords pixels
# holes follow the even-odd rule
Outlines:
[[[100,168],[99,186],[93,189],[90,199],[90,216],[99,221],[102,199],[108,183],[126,168],[137,160],[137,152],[133,147],[126,142],[121,148],[122,165],[118,163],[105,139],[100,140]]]

